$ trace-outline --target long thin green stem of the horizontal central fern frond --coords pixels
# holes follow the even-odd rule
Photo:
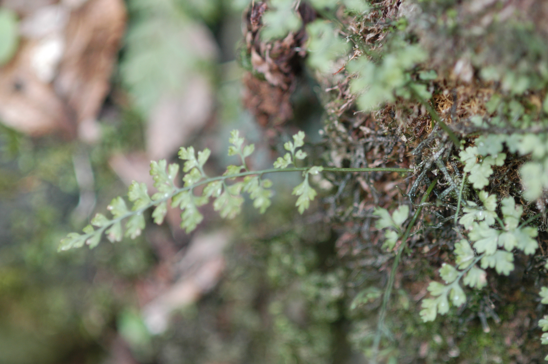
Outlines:
[[[170,198],[172,198],[176,194],[179,194],[180,192],[192,190],[192,189],[195,189],[198,186],[206,185],[206,184],[214,182],[214,181],[221,180],[221,181],[224,182],[225,180],[227,180],[229,178],[233,179],[233,178],[238,178],[238,177],[246,177],[248,175],[263,175],[263,174],[266,174],[266,173],[305,172],[306,170],[309,170],[309,169],[310,169],[310,167],[296,167],[296,168],[283,168],[283,169],[271,168],[271,169],[263,169],[263,170],[252,170],[252,171],[248,170],[248,171],[242,172],[242,173],[236,173],[236,174],[222,175],[222,176],[218,176],[218,177],[206,178],[204,180],[198,181],[197,183],[192,184],[190,186],[186,186],[186,187],[178,188],[178,187],[173,186],[173,191],[168,193],[168,194],[165,194],[164,197],[159,198],[158,200],[153,200],[150,203],[146,204],[145,206],[143,206],[139,209],[133,210],[133,211],[129,211],[128,213],[125,213],[125,214],[117,217],[116,219],[109,220],[109,223],[101,226],[98,230],[95,230],[94,232],[92,232],[90,234],[84,234],[82,237],[85,240],[87,240],[89,237],[91,237],[95,234],[102,234],[110,226],[112,226],[116,223],[119,223],[123,219],[127,219],[127,218],[129,218],[133,215],[142,214],[147,209],[149,209],[153,206],[158,206],[159,204],[168,201]],[[413,169],[408,169],[408,168],[382,168],[382,167],[381,168],[333,168],[333,167],[324,167],[323,172],[401,172],[401,173],[409,173],[409,172],[413,172]]]

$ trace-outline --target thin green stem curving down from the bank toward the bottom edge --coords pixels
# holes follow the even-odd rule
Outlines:
[[[436,186],[437,181],[438,181],[437,179],[433,180],[433,182],[430,184],[425,194],[423,195],[423,198],[421,198],[419,207],[417,207],[415,214],[413,215],[413,218],[411,219],[409,225],[407,225],[406,232],[403,234],[403,237],[402,237],[402,243],[400,244],[398,248],[398,252],[396,253],[396,257],[394,258],[394,263],[392,263],[392,270],[390,271],[388,283],[384,291],[383,304],[381,305],[381,309],[379,312],[379,321],[377,322],[375,339],[373,341],[373,359],[371,361],[372,364],[376,364],[377,362],[377,356],[379,354],[380,338],[381,338],[381,335],[383,332],[383,326],[384,326],[384,319],[386,317],[388,302],[390,300],[392,287],[394,286],[394,281],[396,278],[396,269],[398,268],[399,258],[401,257],[403,253],[403,249],[406,247],[407,238],[409,237],[409,234],[411,234],[411,230],[413,229],[413,226],[415,225],[415,221],[416,219],[419,218],[419,214],[423,210],[423,204],[426,202],[426,199],[428,198],[428,196],[430,196],[432,190]]]

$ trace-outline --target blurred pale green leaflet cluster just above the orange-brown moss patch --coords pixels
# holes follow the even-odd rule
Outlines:
[[[379,64],[366,57],[351,60],[347,70],[357,73],[352,79],[351,90],[358,96],[358,106],[362,110],[373,110],[382,103],[395,100],[395,96],[410,98],[407,87],[413,88],[423,99],[430,99],[423,84],[413,83],[408,71],[424,61],[426,53],[418,45],[400,44],[387,54]]]

